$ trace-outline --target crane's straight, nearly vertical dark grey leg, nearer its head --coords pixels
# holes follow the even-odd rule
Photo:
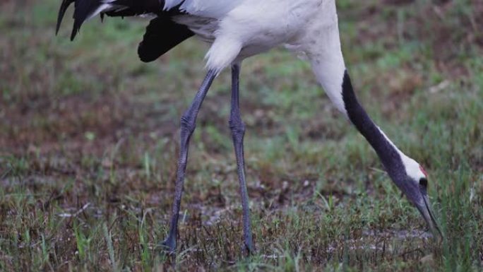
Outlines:
[[[254,242],[251,238],[250,209],[248,191],[245,181],[245,160],[243,151],[243,137],[245,135],[245,124],[241,121],[239,107],[239,75],[240,65],[232,66],[232,110],[229,116],[229,129],[232,131],[235,155],[237,156],[238,180],[240,183],[241,206],[243,208],[243,233],[246,250],[254,252]]]

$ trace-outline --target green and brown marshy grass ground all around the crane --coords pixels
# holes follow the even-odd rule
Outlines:
[[[145,20],[94,19],[69,42],[68,20],[54,36],[58,6],[0,4],[0,271],[482,271],[477,1],[338,1],[359,98],[429,172],[444,242],[428,239],[309,65],[277,49],[241,77],[257,252],[241,251],[225,72],[191,142],[175,259],[156,245],[206,46],[142,64]]]

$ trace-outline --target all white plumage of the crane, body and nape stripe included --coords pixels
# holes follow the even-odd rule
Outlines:
[[[112,1],[104,0],[90,17],[124,8]],[[283,45],[308,57],[318,82],[347,117],[341,90],[346,67],[335,0],[165,0],[165,10],[177,6],[185,13],[172,19],[211,44],[205,57],[209,70],[220,73],[247,57]],[[398,151],[407,175],[415,180],[425,177],[415,160],[383,131],[381,134]]]

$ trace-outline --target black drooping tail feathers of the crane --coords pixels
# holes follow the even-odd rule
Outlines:
[[[185,25],[179,25],[172,20],[172,16],[182,13],[178,8],[163,11],[164,0],[63,0],[57,17],[56,34],[59,32],[67,8],[72,3],[75,9],[71,40],[76,37],[84,21],[97,13],[100,13],[101,18],[105,15],[128,17],[153,14],[157,16],[151,20],[143,42],[138,47],[139,57],[145,62],[154,61],[194,35]]]

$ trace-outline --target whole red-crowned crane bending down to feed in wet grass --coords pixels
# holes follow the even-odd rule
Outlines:
[[[76,37],[83,22],[97,14],[102,18],[105,15],[151,15],[154,18],[138,47],[142,61],[157,59],[193,35],[211,45],[205,58],[208,73],[191,106],[181,117],[176,189],[169,235],[162,243],[169,252],[174,252],[177,245],[179,205],[189,139],[195,129],[196,116],[211,83],[228,66],[232,68],[229,128],[237,159],[244,242],[246,249],[253,252],[244,173],[245,126],[239,110],[239,72],[243,59],[279,45],[306,55],[318,82],[335,107],[376,150],[389,177],[416,206],[431,231],[441,235],[427,195],[426,172],[372,122],[352,90],[340,48],[335,0],[64,0],[59,11],[57,32],[66,9],[72,3],[75,11],[71,40]]]

